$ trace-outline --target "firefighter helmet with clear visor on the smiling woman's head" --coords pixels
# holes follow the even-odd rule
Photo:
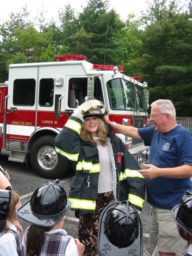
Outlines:
[[[82,115],[84,118],[88,116],[105,116],[108,114],[108,109],[104,104],[96,99],[87,100],[80,105],[82,107]]]

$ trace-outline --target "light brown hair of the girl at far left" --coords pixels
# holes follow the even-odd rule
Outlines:
[[[16,219],[15,206],[19,202],[19,198],[20,198],[19,193],[15,190],[12,190],[11,206],[10,206],[10,209],[8,211],[7,218],[6,218],[6,220],[8,220],[10,222],[13,222]],[[5,231],[10,230],[7,221],[5,222],[4,230]]]

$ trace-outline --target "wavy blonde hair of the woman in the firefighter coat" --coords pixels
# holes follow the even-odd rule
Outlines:
[[[102,146],[107,145],[107,132],[108,132],[108,127],[105,125],[104,121],[98,116],[95,116],[97,123],[98,123],[98,138],[100,138],[100,144]],[[96,141],[92,138],[90,132],[86,129],[85,122],[82,124],[81,132],[80,132],[80,138],[85,141],[91,141],[95,145],[97,144]]]

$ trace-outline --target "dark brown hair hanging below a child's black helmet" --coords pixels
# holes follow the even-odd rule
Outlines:
[[[26,256],[40,256],[42,245],[45,243],[45,232],[52,227],[41,227],[31,224],[26,239]]]

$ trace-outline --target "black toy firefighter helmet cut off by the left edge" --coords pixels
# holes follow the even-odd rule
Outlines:
[[[0,189],[0,232],[3,230],[10,209],[12,188]]]

